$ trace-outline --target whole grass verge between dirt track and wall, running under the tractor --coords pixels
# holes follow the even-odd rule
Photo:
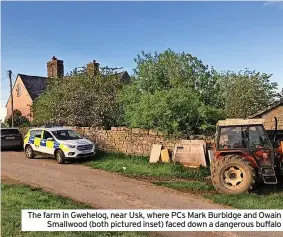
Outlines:
[[[116,153],[99,152],[94,160],[85,165],[95,169],[120,173],[138,179],[146,179],[158,186],[182,192],[200,194],[203,197],[239,209],[283,209],[283,190],[263,185],[257,193],[223,195],[205,182],[208,169],[189,169],[180,164],[150,164],[148,158]],[[181,179],[181,180],[179,180]],[[268,187],[268,188],[267,188]],[[264,195],[263,189],[269,189]]]

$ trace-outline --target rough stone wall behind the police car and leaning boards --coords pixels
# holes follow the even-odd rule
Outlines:
[[[109,152],[122,152],[132,155],[149,156],[152,144],[162,143],[164,148],[173,151],[175,144],[180,141],[174,137],[168,137],[160,132],[139,128],[112,127],[111,130],[102,130],[95,127],[69,127],[76,130],[84,137],[95,142],[100,150]],[[28,128],[23,128],[25,134]],[[193,139],[205,140],[208,144],[213,142],[212,137],[202,135]]]

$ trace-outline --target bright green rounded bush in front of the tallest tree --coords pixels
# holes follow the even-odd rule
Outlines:
[[[175,135],[192,134],[200,116],[197,96],[185,88],[145,93],[133,106],[135,109],[126,110],[128,125]]]

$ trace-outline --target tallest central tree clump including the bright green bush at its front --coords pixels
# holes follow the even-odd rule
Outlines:
[[[218,74],[190,54],[142,52],[132,83],[119,95],[124,124],[175,135],[214,132],[223,118]]]

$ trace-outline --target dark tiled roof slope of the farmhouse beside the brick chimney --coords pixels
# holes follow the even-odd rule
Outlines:
[[[32,100],[38,97],[46,89],[46,77],[29,76],[24,74],[18,75],[21,77]]]

